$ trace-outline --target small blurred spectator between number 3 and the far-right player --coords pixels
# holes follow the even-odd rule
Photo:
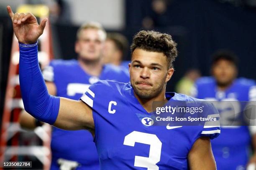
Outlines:
[[[194,82],[201,76],[200,71],[197,69],[188,70],[184,77],[179,80],[176,85],[176,92],[182,93],[185,95],[191,95],[191,90],[194,85]]]

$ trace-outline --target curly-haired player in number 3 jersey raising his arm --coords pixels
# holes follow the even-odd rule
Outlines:
[[[38,25],[30,13],[14,14],[9,6],[7,10],[20,42],[20,88],[25,109],[61,129],[90,130],[101,169],[216,169],[210,139],[220,134],[218,125],[145,127],[136,115],[150,115],[153,101],[199,101],[165,93],[177,56],[170,35],[138,32],[131,45],[131,83],[99,81],[76,101],[49,95],[38,67],[37,39],[47,19]],[[218,115],[215,107],[208,105],[209,111]]]

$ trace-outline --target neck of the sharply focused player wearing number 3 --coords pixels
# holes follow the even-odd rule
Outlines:
[[[147,111],[147,112],[153,112],[153,102],[156,101],[164,101],[164,102],[168,102],[168,100],[165,97],[165,90],[163,92],[161,92],[158,96],[153,97],[151,99],[143,99],[140,98],[135,92],[134,92],[135,97],[137,98],[137,100],[140,102],[140,104],[142,105],[142,107]]]

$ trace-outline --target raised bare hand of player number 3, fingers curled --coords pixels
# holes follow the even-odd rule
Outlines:
[[[31,13],[14,14],[10,6],[7,6],[7,12],[13,21],[13,31],[19,42],[32,44],[43,34],[46,18],[38,25],[36,17]]]

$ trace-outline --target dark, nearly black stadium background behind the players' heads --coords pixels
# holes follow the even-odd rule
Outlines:
[[[210,55],[218,49],[228,49],[238,55],[239,76],[256,79],[256,3],[254,0],[166,0],[166,13],[157,15],[152,0],[125,1],[125,28],[118,30],[131,42],[142,30],[142,20],[153,20],[150,29],[171,34],[178,43],[179,55],[174,62],[175,74],[168,84],[174,90],[176,82],[189,68],[198,68],[202,75],[210,75]],[[74,41],[77,25],[55,23],[54,36],[59,41],[62,58],[76,56]],[[107,30],[113,32],[117,30]],[[68,32],[68,34],[67,34]],[[0,6],[0,117],[3,112],[12,25],[6,6]],[[130,55],[127,55],[129,60]]]

